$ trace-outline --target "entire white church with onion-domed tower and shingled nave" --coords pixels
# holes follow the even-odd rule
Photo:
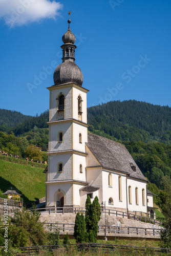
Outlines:
[[[62,36],[62,63],[50,91],[46,206],[81,207],[87,196],[98,196],[106,207],[148,212],[153,194],[123,144],[88,133],[87,93],[75,64],[75,36]]]

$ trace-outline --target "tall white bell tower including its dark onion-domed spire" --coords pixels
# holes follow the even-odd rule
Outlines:
[[[79,189],[86,185],[88,141],[87,89],[75,64],[75,36],[69,28],[62,36],[62,63],[54,72],[50,91],[49,150],[46,181],[47,207],[80,205]]]

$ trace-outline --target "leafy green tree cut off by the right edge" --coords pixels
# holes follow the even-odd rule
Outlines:
[[[164,218],[164,229],[161,229],[161,246],[165,248],[171,248],[171,193],[165,191],[165,201],[162,207],[162,214]]]

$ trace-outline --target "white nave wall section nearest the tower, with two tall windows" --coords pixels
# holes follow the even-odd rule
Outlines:
[[[109,174],[112,174],[112,187],[109,187]],[[119,201],[119,181],[118,178],[121,176],[122,183],[122,201]],[[106,202],[106,206],[126,208],[126,176],[107,170],[102,171],[103,180],[103,200]],[[113,199],[114,205],[109,204],[109,198]]]

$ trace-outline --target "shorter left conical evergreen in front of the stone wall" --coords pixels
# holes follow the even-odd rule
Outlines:
[[[79,214],[77,212],[75,218],[75,226],[74,226],[74,237],[77,243],[83,243],[87,238],[86,231],[86,222],[84,220],[83,214]]]

